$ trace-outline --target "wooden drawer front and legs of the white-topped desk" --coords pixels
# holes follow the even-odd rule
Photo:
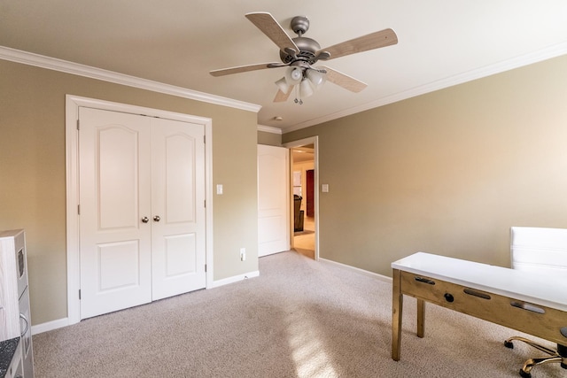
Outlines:
[[[392,359],[396,361],[400,360],[404,295],[417,299],[418,337],[424,336],[427,301],[554,343],[567,344],[567,337],[560,332],[561,328],[567,327],[567,312],[563,309],[392,268]]]

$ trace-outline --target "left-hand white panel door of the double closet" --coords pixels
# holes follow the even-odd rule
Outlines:
[[[80,109],[81,318],[151,301],[151,118]]]

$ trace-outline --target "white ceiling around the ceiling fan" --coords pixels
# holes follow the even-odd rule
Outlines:
[[[368,83],[360,93],[327,82],[302,105],[275,104],[284,68],[208,73],[279,61],[247,12],[270,12],[291,37],[305,15],[323,48],[387,27],[399,43],[325,63]],[[0,46],[260,104],[260,125],[289,131],[563,55],[567,1],[0,0]]]

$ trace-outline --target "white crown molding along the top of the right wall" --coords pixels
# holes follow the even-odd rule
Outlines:
[[[444,79],[440,79],[438,81],[431,81],[430,83],[423,84],[413,89],[408,89],[400,93],[392,94],[390,96],[384,96],[368,104],[362,104],[361,106],[356,106],[341,112],[328,114],[326,116],[314,120],[308,120],[291,127],[286,127],[285,129],[283,129],[283,134],[291,133],[291,131],[299,130],[301,128],[315,126],[323,122],[328,122],[330,120],[337,120],[339,118],[346,117],[357,112],[368,111],[370,109],[377,108],[386,104],[396,103],[410,97],[424,95],[435,90],[453,87],[454,85],[462,84],[467,81],[473,81],[496,73],[503,73],[522,66],[532,65],[534,63],[560,57],[565,54],[567,54],[567,42],[557,43],[555,45],[548,46],[545,49],[536,50],[516,58],[504,60],[494,65],[480,67],[466,73],[456,74]]]

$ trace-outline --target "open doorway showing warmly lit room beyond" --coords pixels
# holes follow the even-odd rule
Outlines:
[[[308,258],[318,253],[318,193],[316,137],[286,143],[291,156],[291,247]]]

